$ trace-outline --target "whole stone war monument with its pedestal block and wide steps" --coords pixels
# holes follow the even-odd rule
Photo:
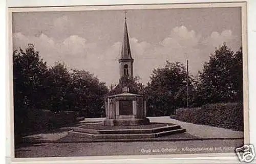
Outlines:
[[[176,124],[150,123],[146,118],[146,102],[141,95],[124,92],[106,97],[105,108],[106,119],[102,123],[84,124],[69,131],[69,134],[92,142],[126,142],[138,139],[152,141],[186,131]]]

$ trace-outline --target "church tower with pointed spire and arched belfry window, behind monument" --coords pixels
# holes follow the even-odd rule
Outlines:
[[[124,22],[123,44],[121,58],[119,59],[119,76],[133,78],[133,61],[130,49],[129,35],[127,30],[126,15]]]

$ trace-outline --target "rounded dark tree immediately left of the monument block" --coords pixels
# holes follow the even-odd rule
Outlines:
[[[87,117],[104,115],[104,96],[109,91],[105,83],[84,70],[73,70],[71,77],[73,110],[83,110],[84,116]]]

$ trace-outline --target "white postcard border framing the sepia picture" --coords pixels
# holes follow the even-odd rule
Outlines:
[[[219,5],[219,6],[218,6]],[[155,7],[154,7],[155,6]],[[174,7],[174,8],[190,8],[190,7],[200,7],[200,8],[202,8],[202,7],[237,7],[237,6],[241,6],[242,7],[242,14],[246,14],[246,15],[242,15],[242,21],[243,21],[243,28],[242,28],[242,33],[243,34],[245,34],[245,35],[243,35],[243,47],[247,47],[247,35],[246,35],[246,32],[247,32],[247,12],[246,12],[246,6],[245,6],[245,4],[244,3],[228,3],[228,4],[226,4],[226,3],[219,3],[219,4],[190,4],[190,5],[188,5],[188,4],[175,4],[175,5],[166,5],[166,4],[164,4],[164,5],[146,5],[146,6],[144,6],[143,5],[143,9],[156,9],[156,6],[157,6],[157,9],[159,9],[159,8],[170,8],[171,6],[172,6],[172,8]],[[116,7],[116,6],[87,6],[87,7],[81,7],[81,6],[77,6],[77,7],[51,7],[51,8],[40,8],[40,11],[56,11],[56,10],[61,10],[61,11],[79,11],[79,10],[87,10],[87,9],[91,9],[91,10],[123,10],[123,9],[126,9],[126,10],[129,10],[129,9],[141,9],[141,8],[139,8],[139,7],[141,7],[140,5],[126,5],[126,6],[118,6],[118,7]],[[159,7],[159,8],[158,8]],[[11,12],[22,12],[22,11],[38,11],[38,8],[11,8],[10,10],[9,10],[10,12],[8,13],[8,14],[11,14]],[[10,16],[10,15],[9,15]],[[244,18],[245,17],[245,18]],[[7,79],[9,79],[9,80],[11,80],[12,81],[12,62],[10,62],[10,61],[12,61],[12,55],[10,55],[10,54],[12,54],[12,34],[11,34],[11,21],[9,20],[8,22],[7,22],[8,24],[9,24],[9,26],[8,26],[8,28],[7,28],[7,30],[9,30],[10,32],[9,32],[9,37],[8,37],[8,44],[9,44],[9,49],[7,49],[7,50],[9,50],[9,52],[8,52],[8,54],[9,54],[9,56],[8,56],[8,58],[7,58],[7,65],[8,65],[8,68],[7,68],[7,71],[10,73],[10,74],[8,74],[7,76],[8,76],[8,78]],[[10,49],[11,48],[11,49]],[[243,49],[243,54],[247,54],[247,49]],[[244,58],[244,66],[247,66],[249,63],[248,63],[248,60],[247,60],[247,56],[245,55],[244,56],[245,58]],[[246,78],[246,80],[244,80],[244,92],[245,92],[245,95],[244,95],[244,104],[245,104],[245,109],[248,109],[248,80],[247,80],[247,78],[248,78],[248,71],[247,71],[247,69],[244,69],[244,78]],[[9,88],[9,89],[11,89],[11,92],[12,92],[12,82],[11,83],[7,83],[7,85],[9,85],[7,88]],[[12,94],[10,94],[11,92],[8,92],[7,91],[7,98],[9,98],[9,100],[10,100],[10,102],[12,102]],[[13,115],[13,107],[11,106],[11,103],[8,103],[9,105],[7,106],[7,110],[8,109],[12,109],[10,112],[9,112],[9,114],[10,115]],[[8,108],[8,107],[10,107],[10,108]],[[245,110],[245,114],[244,114],[244,119],[245,119],[245,121],[248,121],[248,119],[249,119],[249,116],[248,116],[248,110]],[[7,112],[7,115],[8,115],[8,112]],[[9,115],[9,118],[10,118],[10,115]],[[13,118],[11,119],[11,120],[9,120],[10,122],[11,122],[11,124],[12,124],[12,127],[13,127]],[[7,122],[8,123],[8,122]],[[9,127],[9,126],[8,126]],[[11,128],[11,131],[9,132],[9,134],[13,134],[13,128]],[[245,124],[245,131],[244,131],[244,135],[245,135],[245,143],[250,143],[250,141],[248,140],[248,138],[249,137],[246,137],[246,136],[249,136],[249,124],[247,123],[247,124]],[[251,138],[251,137],[250,137]],[[13,144],[13,137],[11,136],[11,139],[9,138],[9,140],[11,140],[10,141],[10,143],[11,143],[11,145],[12,145],[12,147],[14,147],[14,144]],[[201,157],[201,156],[203,156],[203,155],[207,155],[207,156],[209,156],[209,157],[216,157],[216,156],[234,156],[234,154],[233,153],[221,153],[221,154],[186,154],[186,156],[189,156],[189,157]],[[11,156],[13,157],[14,156],[14,150],[12,150],[12,152],[11,152]],[[139,158],[143,158],[143,159],[145,159],[145,158],[148,158],[148,157],[150,157],[150,158],[154,158],[154,159],[156,159],[156,158],[181,158],[181,157],[184,157],[184,154],[175,154],[175,155],[172,155],[172,154],[170,154],[170,155],[157,155],[156,157],[155,157],[155,155],[150,155],[150,156],[145,156],[145,155],[139,155],[139,156],[118,156],[118,158],[121,158],[121,159],[124,159],[124,158],[127,158],[127,157],[129,157],[129,158],[135,158],[135,159],[139,159]],[[57,161],[60,161],[60,160],[80,160],[80,157],[69,157],[68,159],[67,159],[68,157],[65,157],[65,158],[54,158],[54,161],[55,162],[57,162]],[[78,159],[79,158],[79,159]],[[90,162],[91,162],[91,160],[93,160],[93,159],[95,159],[95,157],[82,157],[83,159],[87,159],[87,160],[89,160]],[[90,159],[90,158],[92,158],[92,159]],[[113,158],[116,158],[116,156],[103,156],[103,157],[98,157],[97,156],[97,158],[99,159],[100,158],[100,160],[101,160],[101,162],[102,162],[102,159],[106,159],[106,160],[108,160],[108,159],[113,159]],[[232,157],[233,159],[234,158],[236,158],[236,156],[234,156],[234,157]],[[52,158],[53,159],[53,158]],[[117,158],[116,158],[117,159]],[[237,158],[236,158],[237,159]],[[47,160],[45,160],[45,158],[36,158],[36,159],[34,159],[34,158],[23,158],[22,159],[22,161],[24,161],[24,160],[26,160],[27,162],[28,161],[37,161],[37,163],[38,163],[38,161],[42,161],[42,160],[44,160],[44,161],[47,161]],[[173,159],[172,159],[173,160]],[[208,160],[208,159],[207,159]],[[20,163],[20,159],[14,159],[13,160],[14,162],[15,161],[19,161],[19,163]],[[52,160],[53,161],[53,160]],[[95,160],[96,161],[96,160]],[[123,160],[122,160],[123,161]],[[71,162],[71,161],[70,161]],[[83,162],[84,162],[84,160],[83,160]],[[73,163],[73,161],[72,161],[72,163]]]

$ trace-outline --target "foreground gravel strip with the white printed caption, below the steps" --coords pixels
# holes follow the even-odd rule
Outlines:
[[[45,143],[15,149],[15,157],[195,154],[234,152],[242,139],[182,142]]]

